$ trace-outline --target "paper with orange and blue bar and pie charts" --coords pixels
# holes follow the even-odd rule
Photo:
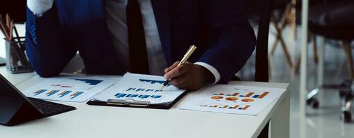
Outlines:
[[[191,92],[192,97],[178,106],[183,110],[258,115],[285,89],[251,86],[215,85]]]

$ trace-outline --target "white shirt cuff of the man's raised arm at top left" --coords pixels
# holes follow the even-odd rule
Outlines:
[[[54,0],[27,0],[27,7],[37,16],[41,17],[53,6]]]

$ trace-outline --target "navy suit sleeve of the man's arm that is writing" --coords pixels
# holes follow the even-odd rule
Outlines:
[[[253,29],[237,0],[202,0],[201,6],[210,48],[197,61],[216,68],[219,83],[227,83],[255,48]]]

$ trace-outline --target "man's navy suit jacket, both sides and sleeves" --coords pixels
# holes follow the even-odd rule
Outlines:
[[[238,0],[151,0],[167,63],[189,61],[216,68],[227,83],[255,48],[255,36]],[[87,73],[123,75],[105,18],[104,0],[56,0],[42,17],[27,10],[26,52],[41,77],[58,75],[76,52]]]

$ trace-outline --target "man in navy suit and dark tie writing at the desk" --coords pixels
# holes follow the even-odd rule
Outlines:
[[[165,75],[178,88],[227,83],[255,48],[238,0],[27,0],[26,51],[41,77],[79,51],[91,74]],[[198,48],[176,66],[189,46]],[[174,63],[175,62],[175,63]]]

